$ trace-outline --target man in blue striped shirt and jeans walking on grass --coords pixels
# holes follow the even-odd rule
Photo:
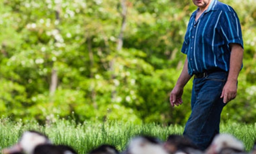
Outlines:
[[[222,108],[237,95],[243,40],[237,14],[218,0],[192,0],[192,13],[181,52],[184,67],[170,93],[171,106],[182,104],[185,84],[194,75],[192,113],[183,135],[205,150],[216,134]]]

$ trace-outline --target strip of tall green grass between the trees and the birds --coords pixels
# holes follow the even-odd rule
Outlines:
[[[221,133],[229,133],[241,139],[249,151],[256,140],[256,124],[221,124]],[[86,154],[94,147],[107,143],[124,150],[129,139],[138,135],[156,136],[165,140],[169,134],[182,134],[183,126],[162,126],[156,124],[135,125],[120,121],[92,123],[85,121],[76,124],[72,120],[57,120],[48,125],[39,125],[35,121],[12,122],[8,118],[0,119],[0,147],[9,147],[16,143],[24,130],[36,130],[45,133],[56,144],[67,144],[79,154]]]

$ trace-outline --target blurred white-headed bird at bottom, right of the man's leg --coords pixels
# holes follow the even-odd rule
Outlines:
[[[244,144],[230,134],[218,134],[213,139],[206,154],[245,154]]]

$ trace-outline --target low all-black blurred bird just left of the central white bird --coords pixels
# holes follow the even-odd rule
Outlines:
[[[118,150],[108,144],[103,144],[89,152],[89,154],[119,154]]]

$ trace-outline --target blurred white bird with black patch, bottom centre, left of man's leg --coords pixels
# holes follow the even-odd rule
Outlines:
[[[130,140],[124,154],[168,154],[163,144],[151,136],[137,136]]]

